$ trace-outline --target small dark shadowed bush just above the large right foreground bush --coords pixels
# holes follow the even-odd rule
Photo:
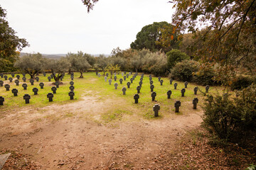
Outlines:
[[[241,90],[246,88],[247,86],[250,86],[252,84],[252,79],[249,77],[242,77],[239,76],[235,79],[235,81],[232,82],[230,85],[231,90]]]

